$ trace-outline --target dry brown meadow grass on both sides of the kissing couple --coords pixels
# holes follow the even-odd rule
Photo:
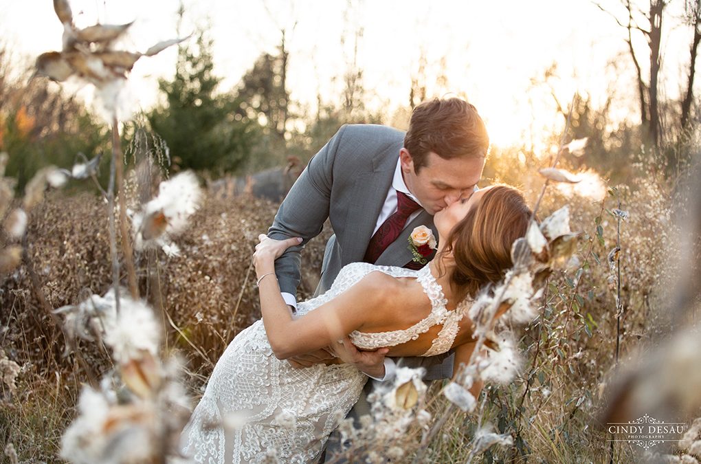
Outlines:
[[[531,197],[541,182],[536,177],[522,179]],[[622,209],[630,213],[621,231],[625,311],[620,340],[621,356],[626,357],[660,329],[658,314],[667,298],[665,256],[674,227],[671,200],[660,185],[622,188],[606,198],[603,213],[600,202],[564,196],[554,189],[547,194],[542,217],[569,204],[573,230],[585,232],[578,250],[580,264],[550,278],[543,315],[522,332],[522,375],[510,385],[489,390],[484,417],[496,431],[515,437],[517,446],[487,451],[478,462],[608,461],[606,435],[595,423],[615,351],[615,294],[607,283],[606,263],[615,244],[615,221],[606,209],[618,207],[620,199]],[[254,278],[246,274],[257,235],[271,224],[275,210],[275,205],[262,200],[209,196],[189,231],[176,240],[182,257],[169,259],[158,253],[149,259],[145,253],[137,259],[140,291],[157,308],[164,308],[177,327],[168,327],[168,346],[188,359],[195,392],[231,338],[259,317]],[[53,308],[79,301],[84,289],[102,294],[109,287],[104,213],[100,199],[86,194],[49,196],[32,212],[30,256]],[[303,254],[302,299],[313,292],[328,235],[326,228]],[[17,392],[4,395],[0,446],[12,442],[20,460],[53,462],[60,433],[74,416],[85,372],[73,355],[62,357],[62,334],[39,306],[25,266],[3,283],[0,322],[1,345],[11,360],[23,366]],[[81,352],[95,371],[111,368],[109,357],[96,343],[83,343]],[[440,384],[434,385],[429,394],[435,399],[432,411],[440,414],[446,400],[435,398]],[[465,443],[478,426],[472,417],[455,414],[431,442],[428,459],[465,462],[469,453]],[[407,439],[415,440],[420,433],[413,430]],[[625,447],[616,453],[620,461],[632,458]]]

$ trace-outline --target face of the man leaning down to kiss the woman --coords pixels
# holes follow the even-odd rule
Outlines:
[[[483,157],[443,159],[433,151],[426,157],[426,165],[416,172],[414,161],[407,149],[400,151],[402,176],[409,191],[418,198],[428,214],[435,214],[457,200],[469,198],[482,177]]]

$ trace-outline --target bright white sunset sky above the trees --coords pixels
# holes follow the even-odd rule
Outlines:
[[[125,43],[130,50],[146,50],[178,35],[177,0],[73,0],[71,4],[81,27],[98,20],[136,20]],[[612,11],[620,6],[618,0],[601,0],[601,4]],[[529,130],[541,133],[562,124],[550,89],[533,88],[531,82],[542,79],[553,63],[557,63],[557,78],[552,85],[561,102],[569,102],[576,90],[601,102],[607,89],[613,89],[618,117],[637,107],[625,31],[590,1],[185,0],[184,6],[181,35],[195,25],[206,27],[215,40],[215,71],[226,78],[222,90],[236,86],[260,53],[275,52],[280,28],[291,31],[288,87],[292,100],[303,105],[297,111],[310,117],[318,94],[325,102],[341,101],[341,76],[353,60],[358,27],[363,34],[357,60],[364,71],[368,106],[388,114],[407,106],[411,76],[422,53],[429,96],[451,91],[468,97],[498,145],[518,144]],[[669,12],[675,13],[676,8],[679,13],[681,6],[681,1],[672,2]],[[0,11],[0,36],[16,53],[14,63],[26,59],[28,65],[44,51],[60,50],[62,27],[50,0],[0,0]],[[679,93],[689,35],[688,28],[667,28],[667,77],[661,88],[670,97]],[[173,48],[139,60],[132,86],[140,107],[147,109],[157,101],[156,79],[172,76],[175,57]],[[607,65],[612,61],[617,69]],[[447,83],[437,86],[435,76],[441,68]]]

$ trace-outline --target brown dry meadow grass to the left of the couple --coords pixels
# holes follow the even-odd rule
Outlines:
[[[109,289],[105,208],[93,195],[55,194],[32,212],[27,231],[29,255],[52,308],[81,301],[88,289],[90,294]],[[210,374],[228,341],[259,318],[255,278],[246,280],[245,275],[257,236],[267,230],[276,210],[276,205],[255,198],[206,198],[189,231],[177,239],[182,257],[169,259],[159,253],[149,264],[149,253],[144,253],[138,263],[142,295],[153,300],[160,285],[163,307],[182,331],[178,334],[170,328],[169,345],[182,348],[197,374],[193,388],[199,388]],[[301,299],[315,288],[312,276],[320,271],[328,236],[325,230],[304,253]],[[23,366],[17,393],[4,395],[0,446],[4,449],[12,442],[20,460],[51,462],[60,448],[62,430],[74,416],[86,373],[74,355],[63,356],[62,332],[39,304],[26,266],[3,282],[0,321],[1,346],[10,360]],[[95,371],[111,369],[104,347],[83,342],[80,348]]]

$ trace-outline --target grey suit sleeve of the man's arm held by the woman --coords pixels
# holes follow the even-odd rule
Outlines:
[[[334,161],[346,126],[343,125],[309,164],[294,183],[275,214],[268,237],[282,240],[301,237],[301,245],[290,247],[275,261],[275,275],[280,291],[297,296],[300,280],[300,252],[304,245],[318,236],[329,217],[329,201],[333,182]]]

